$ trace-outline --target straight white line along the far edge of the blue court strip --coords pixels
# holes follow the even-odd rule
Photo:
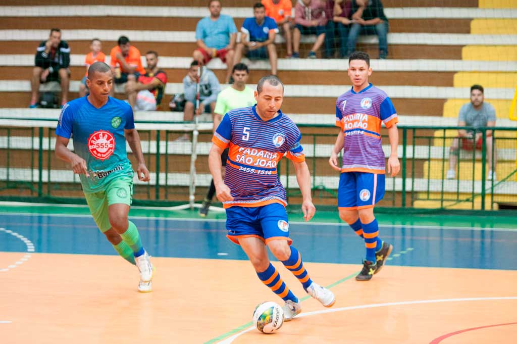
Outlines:
[[[22,205],[33,205],[33,203],[26,203],[26,202],[0,202],[0,205],[16,205],[16,204],[22,204]],[[55,204],[50,203],[42,203],[41,205],[36,206],[55,206]],[[68,205],[67,205],[68,206]],[[75,208],[87,208],[86,205],[80,205],[80,204],[72,204],[71,207]],[[132,209],[139,209],[139,210],[162,210],[166,211],[168,208],[166,207],[144,207],[144,206],[132,206]],[[2,215],[42,215],[42,216],[51,216],[51,217],[92,217],[92,215],[89,214],[52,214],[52,213],[27,213],[27,212],[0,212]],[[336,217],[337,217],[336,212]],[[200,218],[172,218],[172,217],[160,217],[160,216],[129,216],[132,219],[152,219],[152,220],[165,220],[165,221],[195,221],[195,222],[226,222],[225,219],[200,219]],[[305,222],[305,221],[289,221],[291,224],[295,225],[305,225],[305,226],[348,226],[346,223],[332,223],[332,222]],[[454,226],[421,226],[421,225],[382,225],[379,224],[379,228],[402,228],[402,227],[412,227],[417,229],[433,229],[433,230],[440,230],[440,229],[459,229],[459,230],[475,230],[475,231],[490,231],[490,232],[515,232],[517,231],[517,228],[483,228],[483,227],[454,227]]]

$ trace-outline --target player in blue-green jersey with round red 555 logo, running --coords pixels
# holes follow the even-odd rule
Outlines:
[[[140,137],[128,103],[109,96],[113,87],[110,66],[96,62],[88,68],[88,96],[65,104],[56,128],[55,152],[79,174],[95,223],[118,254],[140,271],[140,292],[152,291],[153,265],[140,234],[128,220],[133,193],[133,169],[126,140],[138,161],[136,173],[149,181]],[[68,148],[73,136],[74,152]]]

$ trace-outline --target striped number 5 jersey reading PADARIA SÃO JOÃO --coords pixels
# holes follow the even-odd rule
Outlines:
[[[277,164],[284,154],[293,161],[305,161],[300,139],[296,124],[280,110],[269,121],[258,116],[255,106],[226,113],[212,138],[220,148],[230,147],[224,184],[234,200],[223,202],[223,207],[287,205]]]

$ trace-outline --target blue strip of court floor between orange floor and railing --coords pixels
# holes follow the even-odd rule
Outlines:
[[[131,218],[152,256],[247,259],[226,238],[224,220]],[[28,238],[39,253],[116,255],[87,215],[1,214],[0,227]],[[517,270],[517,231],[505,229],[381,226],[394,246],[390,265]],[[308,262],[360,264],[364,244],[339,223],[291,223],[293,245]],[[0,232],[0,251],[25,252],[18,237]]]

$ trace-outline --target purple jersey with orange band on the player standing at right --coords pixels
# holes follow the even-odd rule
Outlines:
[[[399,117],[388,95],[370,84],[359,93],[351,88],[336,101],[336,126],[343,130],[341,172],[384,174],[381,122],[387,128]]]

